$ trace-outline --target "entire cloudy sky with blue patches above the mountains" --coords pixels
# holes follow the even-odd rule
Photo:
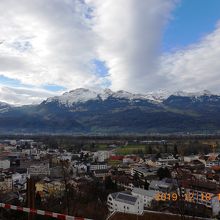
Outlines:
[[[220,93],[219,0],[1,0],[0,101],[76,88]]]

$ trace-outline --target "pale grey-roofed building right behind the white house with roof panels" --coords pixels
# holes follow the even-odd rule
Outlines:
[[[134,188],[132,190],[132,195],[140,197],[144,202],[144,207],[150,207],[152,201],[156,198],[158,191],[155,190],[145,190],[142,188]]]

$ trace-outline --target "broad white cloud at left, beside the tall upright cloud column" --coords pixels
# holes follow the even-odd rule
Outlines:
[[[0,74],[24,84],[68,89],[96,84],[95,36],[79,0],[3,0]]]

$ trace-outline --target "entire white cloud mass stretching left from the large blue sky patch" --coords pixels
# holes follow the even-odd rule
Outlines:
[[[174,2],[3,0],[0,74],[39,86],[97,87],[109,80],[112,89],[145,90],[157,79],[162,29]],[[92,71],[97,58],[106,61],[108,78]]]

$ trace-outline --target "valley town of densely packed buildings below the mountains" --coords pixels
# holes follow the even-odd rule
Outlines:
[[[2,138],[0,204],[97,220],[218,218],[218,141]],[[27,219],[30,214],[1,207],[0,216]]]

